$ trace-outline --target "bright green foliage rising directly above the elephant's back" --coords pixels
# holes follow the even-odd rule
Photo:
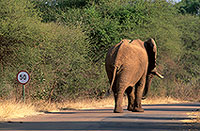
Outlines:
[[[95,62],[103,60],[107,49],[124,38],[145,40],[153,37],[161,44],[166,41],[171,43],[171,39],[180,42],[177,37],[179,32],[174,26],[177,10],[166,1],[98,1],[83,9],[73,8],[63,12],[61,21],[65,24],[78,22],[86,31],[91,45],[90,55]],[[162,50],[169,47],[169,50],[180,51],[179,45],[176,46],[174,48],[174,43],[166,44]]]

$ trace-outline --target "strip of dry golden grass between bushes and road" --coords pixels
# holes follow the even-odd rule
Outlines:
[[[146,99],[143,104],[169,104],[182,103],[183,101],[168,98],[152,98]],[[27,102],[28,103],[28,102]],[[70,109],[97,109],[104,107],[114,107],[113,97],[101,100],[79,100],[66,101],[63,103],[48,103],[45,101],[29,102],[31,104],[24,104],[14,100],[0,101],[0,120],[7,120],[11,118],[26,117],[30,115],[37,115],[41,112],[57,112],[60,110]],[[124,105],[127,105],[127,98],[124,98]]]

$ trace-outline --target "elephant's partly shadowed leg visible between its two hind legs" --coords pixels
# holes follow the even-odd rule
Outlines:
[[[134,107],[134,100],[135,100],[135,94],[134,94],[134,90],[133,87],[129,86],[126,89],[126,94],[128,97],[128,111],[133,111],[133,107]]]

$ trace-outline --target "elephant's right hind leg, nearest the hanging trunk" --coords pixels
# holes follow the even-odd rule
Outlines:
[[[145,80],[146,78],[142,77],[140,81],[138,81],[137,84],[135,85],[135,102],[134,102],[133,112],[144,112],[141,101],[145,86]]]

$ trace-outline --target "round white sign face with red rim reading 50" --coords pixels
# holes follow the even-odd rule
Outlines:
[[[17,81],[20,84],[25,85],[30,80],[30,76],[27,71],[20,71],[17,73]]]

